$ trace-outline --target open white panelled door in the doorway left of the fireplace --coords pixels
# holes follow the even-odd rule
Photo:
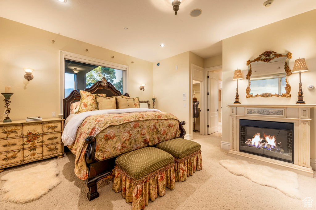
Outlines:
[[[208,74],[208,134],[218,131],[218,75]]]

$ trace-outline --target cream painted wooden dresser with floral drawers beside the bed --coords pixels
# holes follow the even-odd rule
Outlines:
[[[0,173],[3,168],[64,156],[64,119],[0,122]]]

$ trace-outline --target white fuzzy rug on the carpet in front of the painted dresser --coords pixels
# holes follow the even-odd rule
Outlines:
[[[3,200],[15,203],[37,200],[61,182],[58,174],[56,160],[9,172],[1,177],[1,180],[6,181],[1,188],[5,192]]]

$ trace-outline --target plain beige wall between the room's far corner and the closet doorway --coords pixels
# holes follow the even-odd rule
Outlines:
[[[158,63],[158,62],[157,62]],[[163,112],[174,114],[180,121],[185,121],[187,134],[192,133],[189,118],[189,51],[159,61],[160,65],[153,64],[154,95],[156,107]],[[176,70],[178,66],[178,70]],[[182,94],[186,93],[187,100],[182,100]],[[186,104],[183,107],[183,104]],[[189,129],[190,128],[190,129]]]

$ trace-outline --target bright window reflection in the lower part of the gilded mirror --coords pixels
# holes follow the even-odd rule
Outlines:
[[[271,93],[271,94],[285,94],[286,82],[284,75],[277,75],[272,77],[258,77],[251,78],[250,80],[250,94],[263,94],[263,93]]]

